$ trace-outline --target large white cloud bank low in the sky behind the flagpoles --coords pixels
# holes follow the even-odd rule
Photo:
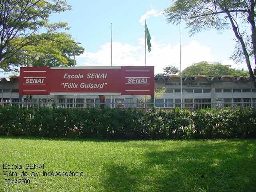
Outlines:
[[[200,62],[214,62],[211,48],[196,41],[182,46],[182,70],[187,66]],[[84,52],[78,56],[84,62],[77,66],[110,66],[110,42],[101,46],[96,52]],[[112,66],[144,66],[144,39],[138,39],[138,45],[132,46],[120,42],[112,43]],[[151,52],[147,51],[147,66],[155,66],[155,73],[162,72],[167,65],[180,68],[180,46],[154,41],[152,38]]]

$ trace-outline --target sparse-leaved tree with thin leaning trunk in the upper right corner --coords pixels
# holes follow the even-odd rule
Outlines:
[[[249,53],[252,53],[256,64],[255,4],[256,0],[175,0],[165,13],[168,22],[178,24],[181,20],[185,21],[186,26],[191,28],[191,35],[202,29],[223,30],[230,24],[240,44],[250,77],[254,80]],[[244,39],[246,27],[251,28],[249,44]]]

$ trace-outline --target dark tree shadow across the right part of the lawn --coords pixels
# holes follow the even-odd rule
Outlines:
[[[255,140],[196,142],[146,152],[143,164],[106,166],[104,191],[256,191]]]

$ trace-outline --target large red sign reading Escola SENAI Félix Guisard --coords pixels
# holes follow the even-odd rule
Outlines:
[[[153,95],[154,67],[22,67],[21,95]]]

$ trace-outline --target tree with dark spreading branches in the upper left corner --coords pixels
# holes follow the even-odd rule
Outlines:
[[[34,35],[40,28],[48,32],[68,28],[64,22],[50,24],[48,18],[70,9],[64,0],[0,0],[0,68],[23,47],[42,40]],[[20,41],[11,46],[15,38]]]

